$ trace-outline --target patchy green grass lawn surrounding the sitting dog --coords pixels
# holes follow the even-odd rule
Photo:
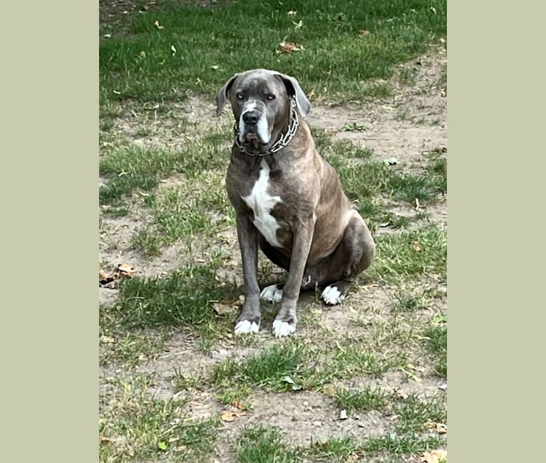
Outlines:
[[[217,234],[234,229],[224,188],[231,122],[202,130],[177,106],[191,94],[212,101],[233,73],[257,67],[297,76],[312,102],[392,98],[394,88],[420,81],[409,61],[445,42],[445,0],[162,1],[148,7],[100,26],[101,214],[109,223],[140,221],[130,236],[133,254],[125,255],[159,261],[175,245],[192,264],[124,279],[115,303],[100,307],[100,361],[108,372],[99,400],[100,461],[404,462],[445,447],[431,428],[445,424],[443,392],[423,400],[391,389],[398,376],[408,390],[430,379],[417,371],[401,375],[409,364],[447,375],[447,323],[439,309],[447,234],[428,223],[428,207],[447,194],[445,149],[422,152],[412,165],[387,165],[369,147],[311,128],[374,232],[376,259],[341,306],[326,308],[303,296],[293,338],[276,340],[267,328],[234,338],[238,309],[223,316],[212,310],[215,301],[232,303],[242,293],[235,280],[217,276],[230,267],[240,274],[237,246],[217,249]],[[282,41],[304,49],[279,53]],[[447,86],[445,67],[437,84]],[[420,123],[410,111],[398,118]],[[339,130],[366,138],[366,125],[342,123]],[[126,237],[101,239],[110,252],[105,265],[128,251]],[[148,263],[141,262],[139,268]],[[259,271],[263,281],[274,267],[260,261]],[[263,306],[262,326],[271,325],[277,309]],[[160,366],[142,373],[150,365]],[[388,389],[378,386],[386,380]],[[295,402],[313,395],[321,439],[313,435],[311,444],[299,445],[290,433],[297,424],[245,422],[264,407],[257,399],[268,395]],[[196,419],[195,400],[210,401],[213,412]],[[217,408],[233,407],[234,400],[250,416],[221,422]],[[349,417],[335,421],[334,432],[331,420],[340,410]],[[382,420],[383,435],[338,432],[369,416]]]

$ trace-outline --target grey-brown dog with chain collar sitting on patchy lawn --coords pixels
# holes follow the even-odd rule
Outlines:
[[[373,261],[375,243],[300,118],[311,104],[296,78],[267,69],[238,73],[217,93],[217,116],[227,100],[235,125],[225,186],[237,217],[244,284],[235,334],[258,332],[262,299],[280,302],[273,334],[281,338],[296,330],[300,289],[324,288],[324,303],[341,303]],[[260,292],[258,247],[288,271],[284,284]]]

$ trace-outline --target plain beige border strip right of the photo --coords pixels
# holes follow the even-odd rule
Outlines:
[[[451,463],[544,459],[545,6],[504,5],[448,7]]]

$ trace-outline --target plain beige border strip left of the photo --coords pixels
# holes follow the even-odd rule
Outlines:
[[[98,3],[2,18],[1,459],[97,462]]]

